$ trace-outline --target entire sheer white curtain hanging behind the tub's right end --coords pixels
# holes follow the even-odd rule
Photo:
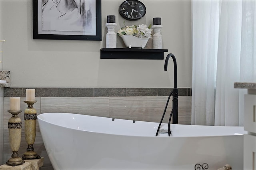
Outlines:
[[[256,82],[256,2],[193,0],[192,50],[192,125],[243,126],[234,82]]]

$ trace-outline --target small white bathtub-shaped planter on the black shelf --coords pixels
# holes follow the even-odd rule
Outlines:
[[[126,47],[141,47],[144,48],[149,40],[149,38],[138,38],[131,35],[122,35],[121,38],[124,41]]]

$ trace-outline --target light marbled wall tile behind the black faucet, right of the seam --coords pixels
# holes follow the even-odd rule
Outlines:
[[[136,121],[160,122],[168,97],[109,97],[109,117]],[[163,123],[168,123],[172,99]],[[179,124],[191,124],[191,97],[180,96],[178,105]]]

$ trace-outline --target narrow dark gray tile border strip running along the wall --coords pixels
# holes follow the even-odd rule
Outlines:
[[[36,97],[168,96],[172,88],[35,88]],[[178,88],[179,96],[191,96],[190,87]],[[4,89],[4,97],[25,97],[26,88]]]

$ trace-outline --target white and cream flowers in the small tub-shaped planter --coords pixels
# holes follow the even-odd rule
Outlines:
[[[146,24],[140,24],[138,26],[125,26],[124,28],[121,28],[118,30],[117,35],[132,35],[138,38],[151,38],[151,24],[147,27]]]

